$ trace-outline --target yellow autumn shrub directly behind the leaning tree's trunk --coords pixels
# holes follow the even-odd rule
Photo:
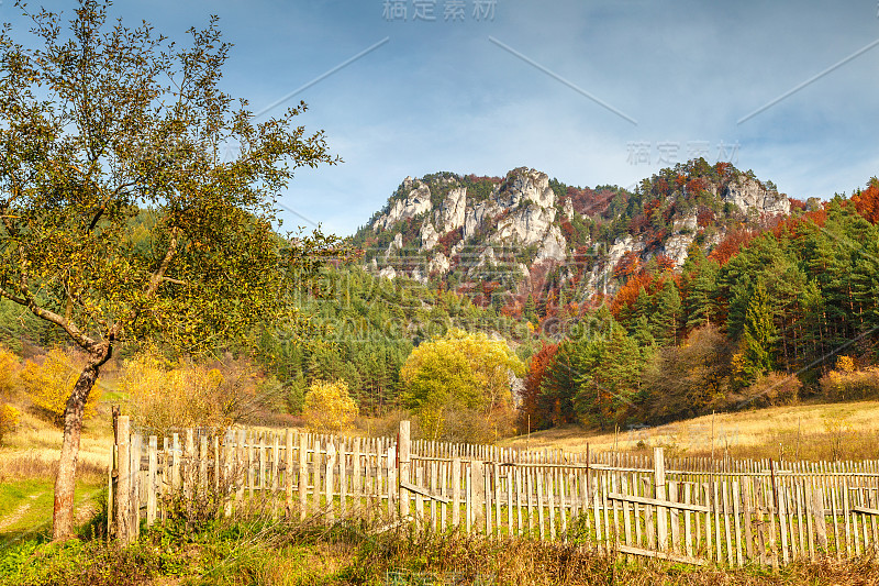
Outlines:
[[[22,388],[40,411],[51,417],[55,424],[64,423],[64,410],[67,399],[74,390],[85,361],[73,352],[53,349],[43,358],[42,364],[27,361],[19,373]],[[94,414],[94,407],[101,398],[101,387],[94,385],[86,401],[85,418]]]

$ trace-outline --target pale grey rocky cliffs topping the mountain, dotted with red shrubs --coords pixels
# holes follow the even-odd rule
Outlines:
[[[571,188],[525,167],[503,178],[441,173],[407,177],[355,243],[382,277],[492,281],[511,294],[553,279],[590,296],[614,292],[621,263],[680,267],[694,244],[708,253],[728,229],[790,209],[770,183],[701,159],[635,191]]]

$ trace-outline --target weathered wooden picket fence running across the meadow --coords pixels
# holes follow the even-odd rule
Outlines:
[[[110,529],[123,542],[175,497],[332,521],[381,511],[436,530],[574,542],[691,564],[778,567],[879,552],[879,462],[666,458],[341,438],[294,430],[144,436],[118,422]]]

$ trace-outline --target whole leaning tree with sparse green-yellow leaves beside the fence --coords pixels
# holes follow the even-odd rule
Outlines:
[[[80,0],[0,32],[0,297],[51,322],[86,365],[67,400],[53,538],[73,534],[82,411],[120,344],[194,353],[301,319],[293,295],[337,241],[280,236],[294,169],[337,159],[292,124],[257,123],[220,86],[212,18],[181,46]],[[15,31],[18,34],[18,32]]]

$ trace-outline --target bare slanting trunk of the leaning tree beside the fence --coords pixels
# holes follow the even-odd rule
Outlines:
[[[101,365],[110,357],[109,346],[103,346],[89,357],[79,375],[74,391],[67,399],[64,410],[64,440],[58,461],[58,475],[55,477],[55,508],[53,511],[52,539],[64,541],[74,537],[74,490],[76,488],[76,466],[79,456],[79,438],[82,432],[82,414],[89,392],[98,380]]]

